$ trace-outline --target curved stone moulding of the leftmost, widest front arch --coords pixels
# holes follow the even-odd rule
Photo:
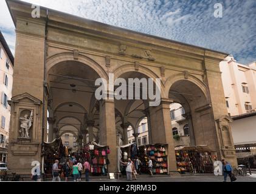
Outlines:
[[[92,69],[97,72],[97,74],[100,76],[100,78],[105,78],[108,80],[108,73],[103,69],[103,67],[94,61],[93,59],[89,58],[86,55],[78,55],[78,59],[74,59],[74,53],[72,52],[66,52],[66,53],[58,53],[56,55],[50,56],[46,60],[46,72],[49,73],[49,70],[54,67],[54,65],[63,62],[63,61],[78,61],[82,64],[88,65]]]

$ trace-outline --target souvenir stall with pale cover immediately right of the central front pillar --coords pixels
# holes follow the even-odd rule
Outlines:
[[[125,167],[120,165],[120,161],[127,162],[128,158],[134,162],[134,167],[137,167],[137,156],[139,154],[139,150],[137,148],[136,143],[126,144],[117,148],[117,169],[119,172],[122,172],[123,175],[126,174]]]

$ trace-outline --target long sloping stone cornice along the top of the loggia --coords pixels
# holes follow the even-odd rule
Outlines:
[[[7,0],[9,10],[11,12],[13,22],[16,24],[16,18],[19,16],[31,19],[31,5],[26,2]],[[170,39],[160,38],[157,36],[147,35],[144,33],[134,32],[119,27],[114,27],[108,24],[103,24],[89,19],[80,18],[67,13],[58,12],[49,8],[40,7],[40,19],[42,22],[46,19],[46,11],[49,12],[49,24],[54,24],[55,27],[71,30],[73,32],[80,31],[83,33],[91,33],[101,39],[119,40],[121,44],[140,44],[142,47],[152,47],[158,50],[159,47],[167,50],[173,50],[170,53],[184,53],[185,55],[196,55],[198,57],[212,58],[216,61],[222,61],[228,54],[216,52],[210,49],[204,49],[194,45],[184,44],[182,42],[171,41]],[[68,19],[67,19],[68,18]],[[36,21],[36,19],[33,19]]]

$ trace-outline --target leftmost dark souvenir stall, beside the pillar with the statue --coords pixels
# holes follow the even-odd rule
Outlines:
[[[42,155],[44,161],[43,173],[46,178],[52,178],[52,166],[55,160],[58,159],[61,169],[61,164],[66,161],[69,152],[67,151],[67,147],[63,146],[61,138],[57,138],[52,142],[44,142]]]

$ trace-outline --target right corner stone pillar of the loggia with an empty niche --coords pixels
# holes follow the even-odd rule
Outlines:
[[[206,53],[212,55],[212,53]],[[212,125],[207,127],[204,133],[209,136],[209,145],[217,152],[218,160],[226,159],[237,165],[234,142],[230,122],[232,119],[227,116],[226,100],[220,72],[220,59],[207,57],[204,59],[205,79],[209,89],[210,116],[211,120],[206,121]]]

